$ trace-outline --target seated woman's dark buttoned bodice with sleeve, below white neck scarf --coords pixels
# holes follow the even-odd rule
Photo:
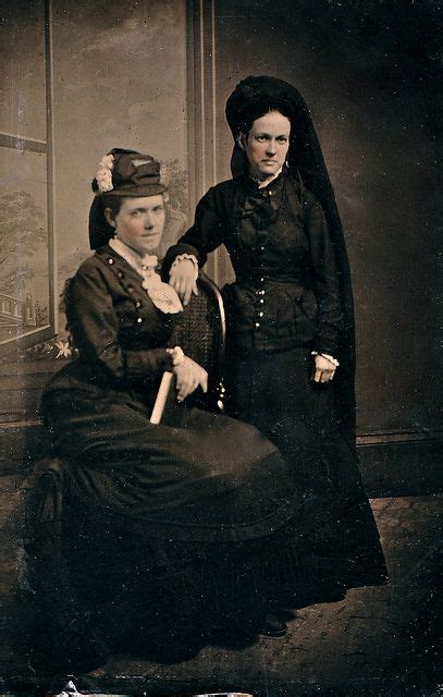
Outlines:
[[[79,358],[50,390],[102,388],[150,400],[171,359],[165,346],[175,315],[158,309],[140,276],[106,245],[82,264],[66,294],[66,317]],[[98,398],[97,398],[98,399]]]

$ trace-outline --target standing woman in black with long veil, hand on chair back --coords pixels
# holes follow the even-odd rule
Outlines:
[[[386,582],[355,457],[354,321],[346,250],[299,93],[247,77],[226,103],[234,178],[213,186],[163,277],[188,302],[193,259],[226,246],[231,409],[272,439],[300,496],[299,602]]]

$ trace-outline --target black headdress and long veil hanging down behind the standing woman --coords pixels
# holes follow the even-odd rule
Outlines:
[[[342,221],[320,143],[309,109],[295,87],[267,75],[251,75],[236,86],[226,101],[226,121],[234,137],[231,171],[234,178],[247,171],[248,163],[238,145],[238,136],[247,135],[254,121],[268,111],[279,111],[291,121],[287,171],[320,201],[333,244],[344,319],[339,346],[341,369],[334,377],[334,396],[342,431],[354,448],[355,321],[349,262]]]

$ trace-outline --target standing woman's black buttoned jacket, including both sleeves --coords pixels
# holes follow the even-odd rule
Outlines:
[[[248,176],[213,186],[195,223],[171,247],[199,265],[226,246],[236,282],[224,289],[229,337],[243,351],[278,351],[311,343],[336,354],[343,315],[334,250],[316,197],[283,172],[263,188]]]

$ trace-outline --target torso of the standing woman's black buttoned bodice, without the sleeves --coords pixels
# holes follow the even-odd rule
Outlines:
[[[274,350],[315,338],[309,244],[302,216],[290,206],[284,178],[264,188],[245,180],[236,234],[225,242],[236,283],[224,289],[233,343]],[[294,328],[297,327],[295,337]]]

